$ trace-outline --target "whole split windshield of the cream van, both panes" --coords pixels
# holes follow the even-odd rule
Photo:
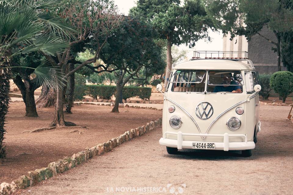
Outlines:
[[[172,76],[172,91],[204,92],[206,71],[177,70]],[[207,92],[243,92],[243,79],[240,71],[208,71]]]

